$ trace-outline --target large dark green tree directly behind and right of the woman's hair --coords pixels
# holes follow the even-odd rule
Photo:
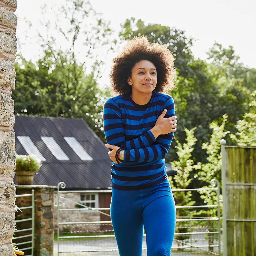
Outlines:
[[[225,77],[223,80],[223,76],[217,75],[218,73],[223,75],[222,69],[224,68],[221,66],[221,61],[228,58],[224,56],[221,60],[221,53],[215,57],[216,50],[214,48],[208,52],[213,63],[208,64],[205,60],[196,60],[191,52],[194,38],[187,38],[183,30],[161,24],[145,25],[141,19],[135,20],[133,17],[126,19],[121,26],[119,35],[122,40],[145,35],[150,42],[164,44],[174,53],[177,88],[170,94],[175,101],[178,120],[175,137],[184,143],[186,138],[184,128],[190,130],[197,127],[195,137],[198,141],[195,144],[192,157],[198,162],[207,162],[207,154],[206,152],[202,153],[201,145],[210,139],[209,124],[214,120],[221,122],[221,116],[229,113],[228,125],[233,131],[234,124],[241,119],[247,107],[249,90],[243,87],[242,78],[232,80],[231,77]],[[233,48],[225,50],[225,53],[231,56]],[[213,57],[215,57],[214,60]],[[218,58],[220,58],[219,61],[217,61]],[[240,67],[241,65],[237,63],[239,57],[235,56],[230,62],[234,60],[236,63],[233,67]],[[227,60],[226,62],[225,68],[228,68],[229,62]],[[175,145],[176,141],[174,140],[173,146],[170,147],[166,156],[167,161],[177,160]],[[197,184],[197,181],[195,182]]]

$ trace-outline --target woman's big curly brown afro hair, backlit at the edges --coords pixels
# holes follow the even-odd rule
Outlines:
[[[111,90],[113,94],[132,93],[132,87],[127,83],[133,66],[141,61],[151,61],[157,70],[157,84],[154,92],[166,93],[175,88],[174,57],[167,46],[150,43],[145,36],[134,37],[123,47],[122,52],[115,57],[110,70]]]

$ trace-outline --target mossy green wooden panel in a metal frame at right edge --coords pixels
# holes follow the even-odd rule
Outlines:
[[[256,255],[256,147],[225,146],[222,157],[223,255]]]

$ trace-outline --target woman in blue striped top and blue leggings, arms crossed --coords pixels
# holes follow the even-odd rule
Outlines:
[[[128,42],[111,68],[112,91],[103,124],[112,160],[110,215],[120,256],[170,255],[175,204],[164,158],[176,131],[174,58],[145,37]]]

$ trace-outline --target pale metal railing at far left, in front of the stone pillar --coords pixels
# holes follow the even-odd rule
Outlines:
[[[29,255],[26,256],[33,256],[34,255],[34,236],[35,236],[35,190],[32,189],[31,194],[23,194],[23,195],[17,195],[16,197],[27,197],[27,196],[31,196],[32,197],[32,203],[31,206],[25,206],[25,207],[19,207],[20,210],[22,209],[32,209],[31,212],[31,218],[27,218],[27,219],[20,219],[20,220],[16,220],[16,223],[19,222],[24,222],[24,221],[31,221],[31,228],[26,228],[26,229],[19,229],[19,230],[15,230],[14,233],[18,233],[18,232],[22,232],[22,231],[29,231],[31,230],[31,234],[28,235],[24,235],[24,236],[19,236],[19,237],[14,237],[15,239],[19,239],[19,238],[24,238],[24,237],[31,237],[30,241],[26,241],[26,242],[21,242],[21,243],[17,243],[17,247],[19,248],[20,251],[25,251],[25,250],[29,250],[31,249],[31,253]],[[15,243],[15,241],[14,241]],[[28,244],[30,243],[31,246],[29,247],[25,247],[25,248],[20,248],[20,245],[23,244]]]

